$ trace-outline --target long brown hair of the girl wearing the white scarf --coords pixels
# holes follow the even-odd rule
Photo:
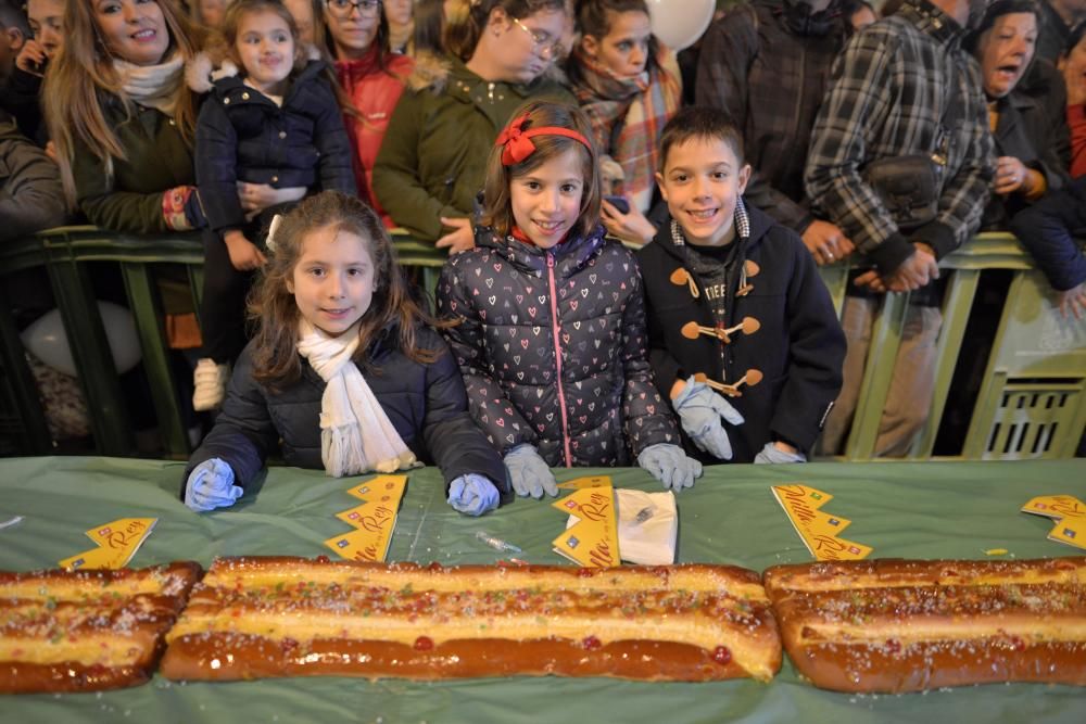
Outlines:
[[[296,351],[301,313],[288,282],[294,277],[306,237],[328,227],[362,238],[374,262],[374,299],[358,326],[361,344],[355,360],[367,364],[370,344],[393,322],[400,326],[400,350],[409,359],[431,363],[441,354],[440,350],[425,350],[416,344],[418,327],[433,325],[434,320],[412,297],[381,219],[359,199],[325,191],[305,199],[282,217],[275,233],[275,250],[249,297],[249,314],[258,325],[253,378],[272,389],[289,385],[302,373]]]

